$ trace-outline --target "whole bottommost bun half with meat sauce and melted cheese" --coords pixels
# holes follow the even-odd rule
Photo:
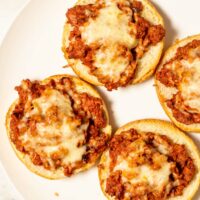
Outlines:
[[[199,149],[167,121],[133,121],[116,131],[98,170],[109,200],[189,200],[200,184]]]

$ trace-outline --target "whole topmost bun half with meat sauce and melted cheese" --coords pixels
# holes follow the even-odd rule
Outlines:
[[[62,50],[82,79],[112,90],[153,74],[165,30],[149,1],[79,0],[66,16]]]

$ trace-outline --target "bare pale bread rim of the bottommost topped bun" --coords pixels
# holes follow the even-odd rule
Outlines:
[[[198,191],[200,185],[200,153],[193,140],[185,133],[180,131],[172,123],[158,119],[143,119],[130,122],[119,128],[113,137],[115,137],[115,135],[123,134],[123,132],[129,131],[131,129],[136,130],[140,134],[154,133],[156,135],[167,136],[172,142],[184,145],[186,147],[189,156],[193,159],[193,162],[195,164],[196,174],[189,185],[184,188],[183,194],[181,196],[170,197],[168,199],[191,200],[194,197],[195,193]],[[114,196],[110,196],[108,195],[108,193],[106,193],[105,180],[107,180],[108,174],[110,173],[108,168],[109,165],[107,164],[110,162],[110,157],[108,157],[108,155],[109,153],[107,150],[101,156],[99,164],[99,180],[101,189],[107,199],[116,200],[117,198],[115,198]]]

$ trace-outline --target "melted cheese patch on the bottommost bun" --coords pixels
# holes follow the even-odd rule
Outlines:
[[[162,147],[161,147],[162,146]],[[169,175],[171,174],[171,164],[166,160],[160,160],[162,166],[160,169],[154,170],[147,164],[139,166],[130,166],[132,159],[137,160],[140,158],[139,154],[144,152],[147,148],[145,142],[142,140],[135,141],[131,144],[134,151],[129,153],[129,156],[124,159],[119,156],[114,170],[122,170],[123,181],[129,181],[131,184],[147,183],[150,187],[161,191],[164,186],[168,184]],[[159,145],[159,148],[165,149],[164,145]]]

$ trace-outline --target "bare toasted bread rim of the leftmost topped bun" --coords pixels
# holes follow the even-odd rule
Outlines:
[[[77,91],[80,92],[86,92],[87,94],[93,96],[93,97],[97,97],[100,98],[100,95],[98,94],[98,92],[89,84],[85,83],[84,81],[80,80],[77,77],[71,76],[71,75],[67,75],[67,74],[62,74],[62,75],[54,75],[51,77],[48,77],[46,79],[44,79],[43,81],[41,81],[42,83],[48,83],[50,80],[60,80],[62,78],[69,78],[76,86]],[[106,126],[103,128],[103,131],[108,135],[108,137],[111,136],[111,126],[109,125],[109,116],[108,116],[108,111],[106,108],[106,105],[103,102],[103,110],[105,113],[105,118],[106,118]],[[47,179],[63,179],[66,178],[66,175],[63,173],[63,169],[58,168],[55,171],[51,171],[51,170],[47,170],[45,169],[43,166],[37,166],[35,164],[33,164],[33,162],[30,159],[30,156],[17,150],[15,144],[11,141],[11,137],[10,137],[10,119],[11,119],[11,114],[15,108],[15,106],[17,105],[18,100],[16,100],[9,108],[7,115],[6,115],[6,129],[7,129],[7,134],[8,134],[8,138],[10,140],[11,146],[13,147],[17,157],[25,164],[25,166],[32,171],[33,173],[47,178]],[[96,164],[96,161],[92,162],[92,163],[86,163],[85,165],[83,165],[81,168],[76,169],[73,174],[77,174],[79,172],[85,171],[89,168],[91,168],[93,165]]]

